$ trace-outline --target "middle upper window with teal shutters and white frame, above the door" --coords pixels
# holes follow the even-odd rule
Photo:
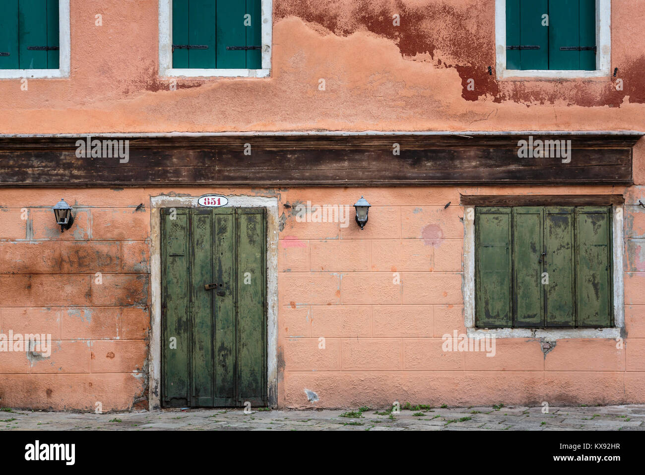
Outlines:
[[[161,0],[161,74],[267,76],[270,8],[266,0]]]

